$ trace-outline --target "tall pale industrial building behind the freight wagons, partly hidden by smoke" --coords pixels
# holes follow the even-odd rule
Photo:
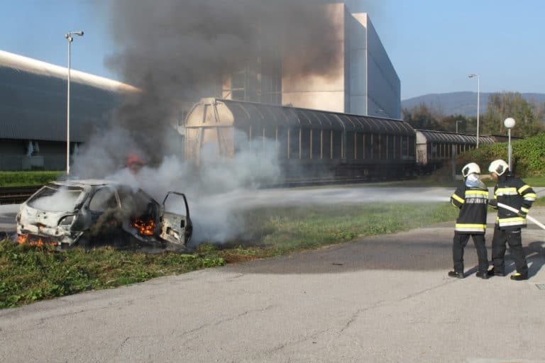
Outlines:
[[[329,77],[292,77],[283,70],[279,56],[229,77],[223,98],[400,118],[400,79],[368,14],[350,13],[343,3],[324,6],[339,32],[331,37],[340,42],[338,69],[332,69]]]

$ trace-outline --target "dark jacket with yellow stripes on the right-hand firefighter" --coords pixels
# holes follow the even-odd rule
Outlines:
[[[524,213],[528,213],[532,203],[536,200],[536,194],[532,187],[525,184],[522,179],[509,174],[500,175],[494,187],[494,199],[490,203],[497,206],[503,203]],[[505,208],[497,208],[497,224],[502,229],[521,228],[526,225],[526,218]]]

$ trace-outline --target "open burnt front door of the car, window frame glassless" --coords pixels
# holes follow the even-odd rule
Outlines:
[[[174,194],[175,198],[167,199]],[[183,203],[182,203],[183,201]],[[187,245],[191,240],[193,225],[189,218],[189,206],[185,194],[169,191],[161,204],[161,238],[176,245]]]

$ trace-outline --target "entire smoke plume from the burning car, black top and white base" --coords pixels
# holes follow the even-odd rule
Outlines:
[[[116,110],[109,129],[82,147],[73,175],[138,186],[158,201],[166,191],[182,191],[189,199],[196,240],[232,238],[243,226],[231,213],[237,203],[230,193],[277,179],[277,155],[268,152],[257,160],[251,150],[240,150],[234,160],[216,160],[197,172],[175,156],[182,145],[172,126],[180,125],[183,106],[202,96],[221,97],[225,77],[248,65],[268,76],[267,65],[281,59],[282,72],[290,77],[329,77],[341,55],[336,20],[323,4],[303,0],[108,4],[101,10],[119,51],[106,64],[141,91]],[[137,174],[124,165],[131,153],[147,163]]]

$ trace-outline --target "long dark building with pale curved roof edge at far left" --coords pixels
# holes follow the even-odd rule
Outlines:
[[[136,89],[72,70],[70,155]],[[65,169],[67,68],[0,51],[0,170]]]

